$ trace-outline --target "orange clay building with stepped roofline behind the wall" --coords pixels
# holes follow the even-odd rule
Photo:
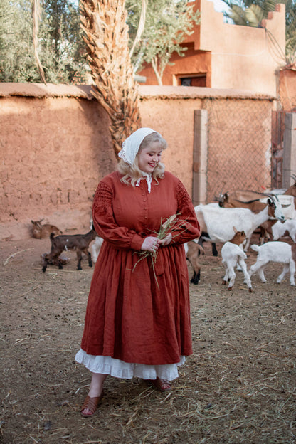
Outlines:
[[[201,86],[277,94],[277,78],[285,65],[285,5],[261,23],[260,28],[223,22],[213,2],[195,0],[200,23],[183,45],[184,57],[174,53],[162,78],[163,85]],[[145,85],[157,85],[151,65],[139,73]]]

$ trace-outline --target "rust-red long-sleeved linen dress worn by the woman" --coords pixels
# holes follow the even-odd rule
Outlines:
[[[81,349],[129,363],[178,363],[192,353],[182,244],[199,236],[199,223],[173,174],[165,172],[158,184],[152,179],[150,193],[146,180],[133,187],[121,177],[118,171],[106,176],[95,193],[93,221],[105,241],[90,286]],[[180,228],[169,245],[159,247],[154,276],[151,259],[139,261],[142,243],[176,213],[186,230]]]

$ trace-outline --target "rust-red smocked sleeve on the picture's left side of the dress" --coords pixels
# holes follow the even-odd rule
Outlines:
[[[93,223],[97,235],[118,250],[140,250],[143,238],[136,231],[119,226],[113,213],[112,187],[103,181],[97,186],[93,201]]]

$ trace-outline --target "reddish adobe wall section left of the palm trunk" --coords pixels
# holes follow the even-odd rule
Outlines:
[[[31,219],[88,228],[97,183],[116,164],[109,118],[92,97],[32,88],[0,83],[0,239],[28,236]]]

